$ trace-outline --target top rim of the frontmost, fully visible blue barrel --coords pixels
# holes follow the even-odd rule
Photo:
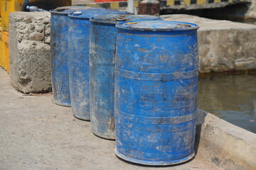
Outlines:
[[[190,27],[186,28],[136,28],[136,27],[128,27],[129,24],[143,23],[143,22],[152,22],[152,21],[134,21],[134,22],[124,22],[117,23],[116,27],[122,30],[140,30],[140,31],[181,31],[181,30],[198,30],[199,26],[196,23],[186,23],[180,21],[155,21],[155,22],[163,22],[163,23],[176,23],[177,25],[186,24]],[[134,26],[134,25],[133,25]]]

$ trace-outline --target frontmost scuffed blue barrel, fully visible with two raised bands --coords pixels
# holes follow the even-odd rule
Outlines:
[[[146,165],[188,161],[196,133],[198,26],[138,21],[117,28],[117,156]]]

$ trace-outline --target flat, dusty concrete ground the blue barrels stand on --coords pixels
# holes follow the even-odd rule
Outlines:
[[[0,169],[159,169],[129,164],[114,154],[114,141],[92,134],[90,122],[52,103],[52,95],[29,96],[11,86],[0,68]],[[161,169],[219,169],[201,154]]]

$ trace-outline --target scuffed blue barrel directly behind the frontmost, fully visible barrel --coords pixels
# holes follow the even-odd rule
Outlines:
[[[107,15],[91,18],[90,34],[90,118],[92,132],[115,139],[114,132],[114,55],[117,41],[116,23],[160,20],[157,16]]]

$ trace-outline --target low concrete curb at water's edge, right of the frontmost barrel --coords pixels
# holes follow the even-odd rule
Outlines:
[[[203,118],[203,115],[206,117]],[[256,169],[256,134],[198,110],[196,139],[203,157],[222,169]]]

